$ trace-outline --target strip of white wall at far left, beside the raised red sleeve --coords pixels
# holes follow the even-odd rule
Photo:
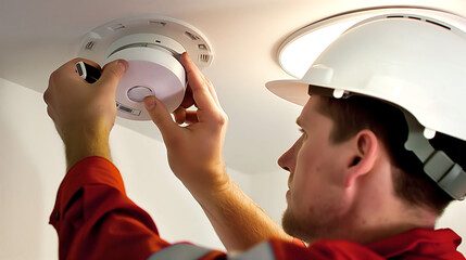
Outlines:
[[[42,103],[0,79],[0,259],[56,259],[48,218],[65,165]]]

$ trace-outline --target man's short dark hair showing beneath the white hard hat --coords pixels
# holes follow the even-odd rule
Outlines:
[[[414,153],[404,148],[408,130],[400,108],[357,95],[339,100],[323,96],[322,100],[319,113],[333,121],[331,142],[347,141],[364,129],[373,131],[388,150],[395,195],[410,205],[428,207],[438,216],[442,214],[453,198],[424,172]]]

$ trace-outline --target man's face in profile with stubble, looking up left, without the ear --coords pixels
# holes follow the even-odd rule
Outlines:
[[[317,110],[319,102],[314,95],[303,107],[297,120],[303,133],[278,159],[290,172],[284,229],[306,242],[332,237],[348,210],[340,145],[329,141],[333,122]]]

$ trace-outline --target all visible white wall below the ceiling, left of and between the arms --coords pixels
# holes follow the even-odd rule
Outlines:
[[[65,162],[42,94],[0,79],[0,259],[56,259],[56,233],[48,218]],[[171,172],[163,143],[115,126],[111,146],[129,197],[153,217],[163,238],[223,248]],[[249,188],[248,177],[229,172]]]

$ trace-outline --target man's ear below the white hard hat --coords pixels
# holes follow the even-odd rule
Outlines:
[[[352,186],[358,177],[370,172],[380,148],[376,134],[370,130],[360,131],[350,141],[352,155],[347,164],[345,186]]]

